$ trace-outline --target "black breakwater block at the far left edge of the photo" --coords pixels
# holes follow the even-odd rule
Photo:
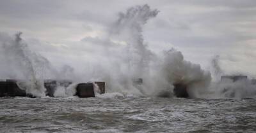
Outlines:
[[[6,80],[6,81],[0,81],[0,96],[20,96],[20,97],[26,97],[26,91],[21,90],[15,80]]]

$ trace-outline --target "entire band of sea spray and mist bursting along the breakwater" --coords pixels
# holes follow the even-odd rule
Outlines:
[[[98,51],[94,56],[99,56],[100,60],[77,63],[84,67],[90,64],[92,68],[84,68],[79,73],[76,73],[77,64],[63,63],[61,68],[53,67],[51,59],[29,50],[21,33],[10,36],[1,32],[0,78],[25,80],[18,83],[19,87],[36,97],[45,96],[45,79],[73,82],[70,87],[59,86],[54,94],[56,97],[74,95],[76,84],[87,81],[106,81],[106,91],[113,95],[151,97],[165,93],[173,97],[173,84],[182,83],[191,98],[255,97],[256,87],[250,81],[220,82],[220,76],[225,72],[219,65],[218,56],[212,60],[214,73],[211,74],[199,64],[185,60],[175,48],[164,50],[161,54],[149,50],[147,45],[150,44],[143,39],[143,25],[157,17],[158,13],[147,4],[119,13],[118,19],[109,25],[108,34],[97,38],[97,42],[103,45],[92,46]],[[82,40],[79,43],[86,42]],[[134,81],[140,78],[143,83],[135,85]]]

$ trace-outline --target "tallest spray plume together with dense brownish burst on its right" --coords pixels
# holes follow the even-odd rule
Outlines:
[[[157,13],[159,11],[150,9],[147,4],[120,13],[110,34],[113,39],[126,45],[118,63],[126,65],[127,69],[117,69],[116,78],[112,75],[115,79],[109,77],[112,78],[111,88],[119,87],[124,93],[137,95],[159,95],[164,92],[172,96],[173,83],[184,83],[189,90],[207,87],[211,74],[203,71],[199,65],[185,61],[181,52],[172,49],[161,57],[147,48],[142,35],[143,25],[156,17]],[[140,87],[132,83],[132,79],[136,78],[143,79]]]

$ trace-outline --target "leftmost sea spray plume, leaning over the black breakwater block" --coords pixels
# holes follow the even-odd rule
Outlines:
[[[1,67],[3,71],[6,71],[8,66],[13,69],[13,71],[9,71],[10,75],[2,78],[15,79],[17,80],[17,85],[26,90],[27,94],[44,97],[44,82],[42,77],[38,75],[39,69],[35,69],[35,64],[33,63],[33,58],[36,58],[36,55],[31,53],[26,43],[22,41],[21,34],[21,32],[15,34],[14,39],[7,36],[5,40],[1,40],[1,47],[4,50],[4,59],[1,61],[6,64],[6,66]]]

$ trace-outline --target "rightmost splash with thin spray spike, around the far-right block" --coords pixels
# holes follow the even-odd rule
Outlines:
[[[205,89],[205,93],[200,95],[200,98],[211,98],[211,99],[244,99],[244,98],[255,98],[256,96],[256,85],[253,83],[253,79],[244,78],[239,80],[241,74],[229,74],[230,76],[224,76],[226,73],[220,66],[220,55],[216,55],[212,59],[212,68],[214,80],[211,82],[209,87]],[[243,74],[242,74],[243,75]],[[221,79],[221,76],[223,79]],[[232,79],[237,77],[238,80]],[[243,76],[244,77],[244,76]],[[251,77],[252,78],[252,77]]]

